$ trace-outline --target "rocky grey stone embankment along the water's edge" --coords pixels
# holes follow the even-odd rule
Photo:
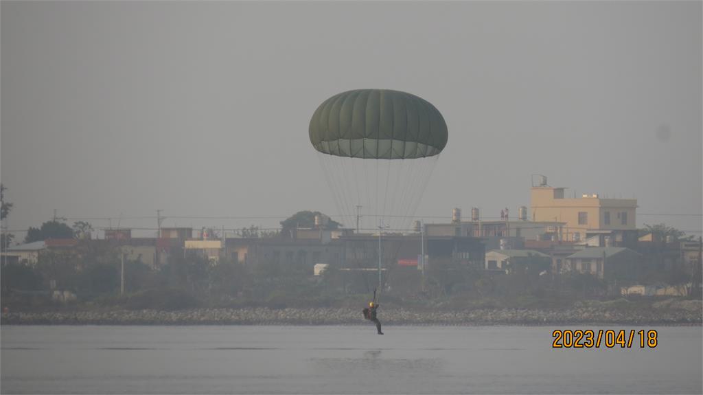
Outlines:
[[[466,311],[379,311],[383,325],[543,326],[662,325],[702,326],[701,311],[574,308],[475,309]],[[367,325],[356,309],[188,309],[2,313],[1,325]]]

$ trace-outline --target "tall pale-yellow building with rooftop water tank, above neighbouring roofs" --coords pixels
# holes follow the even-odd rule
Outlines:
[[[562,240],[567,241],[586,240],[587,236],[597,233],[636,231],[636,199],[602,199],[598,195],[567,198],[565,189],[547,185],[532,187],[532,221],[566,223]]]

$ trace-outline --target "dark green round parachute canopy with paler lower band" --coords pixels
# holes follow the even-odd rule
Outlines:
[[[356,89],[324,101],[310,119],[321,153],[369,159],[415,159],[441,153],[444,117],[423,98],[388,89]]]

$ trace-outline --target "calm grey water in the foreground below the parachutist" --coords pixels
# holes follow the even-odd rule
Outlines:
[[[701,394],[702,328],[12,326],[3,394]],[[555,329],[657,346],[553,349]]]

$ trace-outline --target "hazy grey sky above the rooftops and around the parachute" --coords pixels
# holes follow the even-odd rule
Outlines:
[[[2,1],[0,11],[11,229],[53,209],[144,227],[156,221],[127,217],[335,214],[308,124],[326,98],[359,88],[414,93],[446,119],[418,215],[516,213],[538,173],[579,195],[636,197],[638,226],[701,228],[701,216],[639,215],[702,212],[701,1]]]

